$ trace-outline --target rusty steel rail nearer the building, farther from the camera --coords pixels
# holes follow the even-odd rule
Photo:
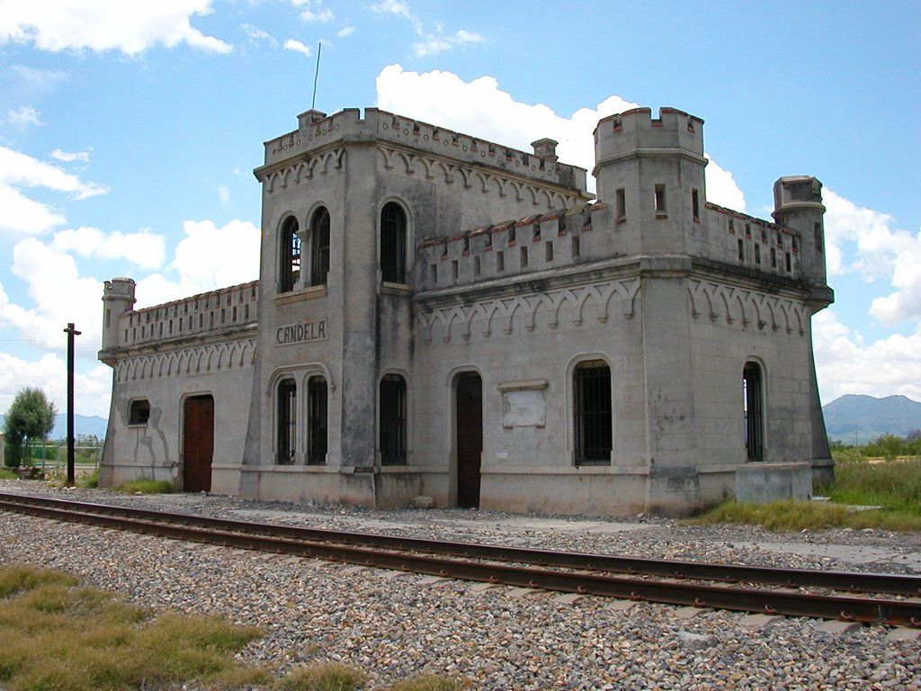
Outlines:
[[[351,533],[321,528],[278,525],[275,523],[233,521],[230,519],[195,516],[187,513],[168,513],[149,509],[115,507],[108,504],[31,497],[29,495],[0,493],[0,501],[30,503],[36,506],[57,506],[63,509],[77,509],[87,512],[105,511],[129,518],[179,523],[181,525],[214,528],[235,533],[272,535],[295,540],[413,551],[442,556],[461,556],[468,559],[488,559],[539,567],[577,568],[589,571],[624,573],[632,576],[754,583],[777,585],[786,588],[812,587],[827,588],[835,591],[888,593],[906,596],[921,595],[921,576],[914,575],[757,567],[636,556],[559,552],[528,547],[479,545],[376,533]]]

